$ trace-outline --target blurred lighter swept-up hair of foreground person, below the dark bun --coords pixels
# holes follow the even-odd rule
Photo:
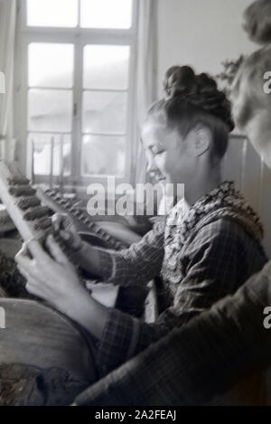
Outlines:
[[[238,97],[239,127],[246,126],[260,109],[271,109],[271,95],[264,90],[267,71],[271,71],[271,44],[250,54],[233,80],[231,95],[233,99]]]

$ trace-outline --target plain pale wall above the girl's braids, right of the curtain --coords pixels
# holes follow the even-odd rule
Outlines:
[[[158,0],[158,87],[174,64],[195,71],[222,71],[225,59],[238,59],[257,45],[242,30],[242,14],[252,0]]]

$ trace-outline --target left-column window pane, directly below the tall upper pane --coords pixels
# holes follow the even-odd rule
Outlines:
[[[28,129],[31,131],[71,131],[72,92],[70,90],[29,90]]]

